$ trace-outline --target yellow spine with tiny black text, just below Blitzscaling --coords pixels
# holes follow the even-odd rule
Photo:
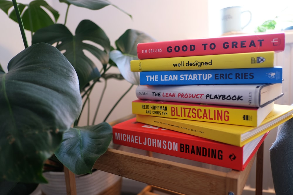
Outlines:
[[[243,146],[241,143],[241,135],[233,132],[219,131],[214,130],[213,128],[203,127],[196,124],[185,123],[184,120],[168,120],[165,117],[155,117],[148,115],[136,115],[136,121],[154,125],[161,128],[166,128],[169,130],[194,135],[197,137],[202,137],[214,141],[219,141],[222,143],[234,145],[234,146]]]

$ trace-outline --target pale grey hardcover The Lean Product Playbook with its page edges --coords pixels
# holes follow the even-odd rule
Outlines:
[[[138,85],[139,99],[263,107],[282,97],[282,84]]]

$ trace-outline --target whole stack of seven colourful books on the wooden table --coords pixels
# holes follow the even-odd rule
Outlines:
[[[285,34],[245,34],[137,45],[136,118],[113,126],[113,142],[243,170],[268,132],[293,117],[282,93]]]

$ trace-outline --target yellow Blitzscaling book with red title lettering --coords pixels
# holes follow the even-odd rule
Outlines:
[[[132,101],[133,114],[252,127],[260,125],[273,108],[274,102],[262,108],[251,108],[144,99]]]

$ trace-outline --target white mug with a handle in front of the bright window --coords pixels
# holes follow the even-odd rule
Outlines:
[[[242,26],[241,18],[243,13],[249,14],[248,22]],[[242,11],[240,6],[221,9],[222,33],[242,32],[243,28],[251,22],[251,12]]]

